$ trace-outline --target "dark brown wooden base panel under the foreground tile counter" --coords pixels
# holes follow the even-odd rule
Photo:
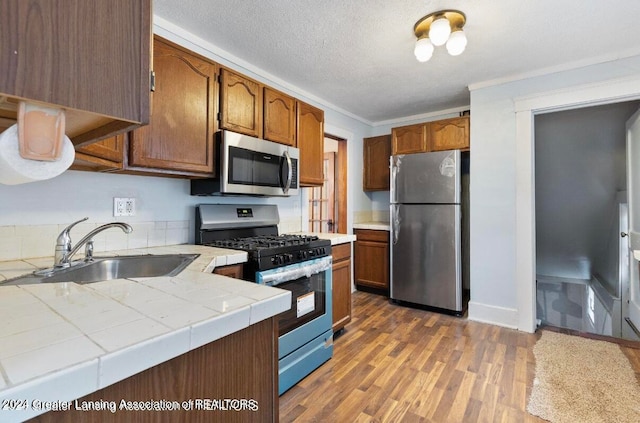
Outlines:
[[[176,401],[180,407],[128,411],[120,409],[123,400]],[[278,321],[263,320],[77,400],[89,401],[114,401],[116,410],[76,411],[72,402],[71,411],[51,411],[32,421],[277,422]],[[185,401],[192,401],[193,409],[185,409]],[[226,409],[213,409],[216,404]]]

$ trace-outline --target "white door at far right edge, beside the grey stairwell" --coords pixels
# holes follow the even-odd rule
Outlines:
[[[640,337],[640,110],[627,121],[627,192],[629,249],[634,256],[629,280],[627,323]],[[634,254],[635,252],[635,254]]]

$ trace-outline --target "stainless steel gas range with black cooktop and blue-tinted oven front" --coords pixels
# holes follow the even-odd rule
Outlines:
[[[278,235],[275,205],[201,204],[196,244],[246,251],[246,280],[291,291],[279,315],[278,373],[282,394],[333,355],[331,241]]]

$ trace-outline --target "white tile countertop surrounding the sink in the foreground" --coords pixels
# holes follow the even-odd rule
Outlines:
[[[47,401],[95,392],[291,305],[289,291],[211,273],[245,262],[245,252],[176,245],[108,255],[174,253],[200,257],[174,277],[0,282],[0,421],[26,420]],[[0,281],[51,263],[0,262]]]

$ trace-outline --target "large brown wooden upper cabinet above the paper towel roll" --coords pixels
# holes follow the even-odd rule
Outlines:
[[[151,0],[3,0],[0,28],[0,117],[65,108],[76,145],[149,121]]]

